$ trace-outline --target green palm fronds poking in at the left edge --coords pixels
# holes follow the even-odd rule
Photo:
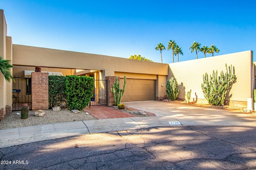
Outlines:
[[[11,80],[14,80],[12,77],[11,68],[13,66],[10,64],[10,60],[4,60],[2,56],[0,56],[0,71],[4,74],[4,78],[7,82],[10,82]]]

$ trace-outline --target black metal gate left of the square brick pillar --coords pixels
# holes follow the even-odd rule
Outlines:
[[[31,78],[15,77],[12,82],[12,111],[21,110],[22,104],[27,103],[32,108]]]

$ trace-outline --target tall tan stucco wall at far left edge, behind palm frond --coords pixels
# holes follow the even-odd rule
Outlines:
[[[6,59],[7,24],[4,11],[0,10],[0,55]],[[0,109],[6,107],[6,80],[0,72]]]

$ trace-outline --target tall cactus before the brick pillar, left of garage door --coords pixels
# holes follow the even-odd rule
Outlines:
[[[116,77],[116,82],[111,87],[111,92],[113,92],[113,94],[114,94],[116,106],[118,106],[118,104],[120,104],[120,102],[121,102],[121,99],[123,97],[124,90],[125,90],[125,85],[126,85],[126,76],[124,76],[124,88],[123,89],[120,89],[120,82],[118,82],[118,77]]]

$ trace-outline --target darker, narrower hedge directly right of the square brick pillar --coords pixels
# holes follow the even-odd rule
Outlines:
[[[49,76],[49,108],[67,106],[66,77]]]

